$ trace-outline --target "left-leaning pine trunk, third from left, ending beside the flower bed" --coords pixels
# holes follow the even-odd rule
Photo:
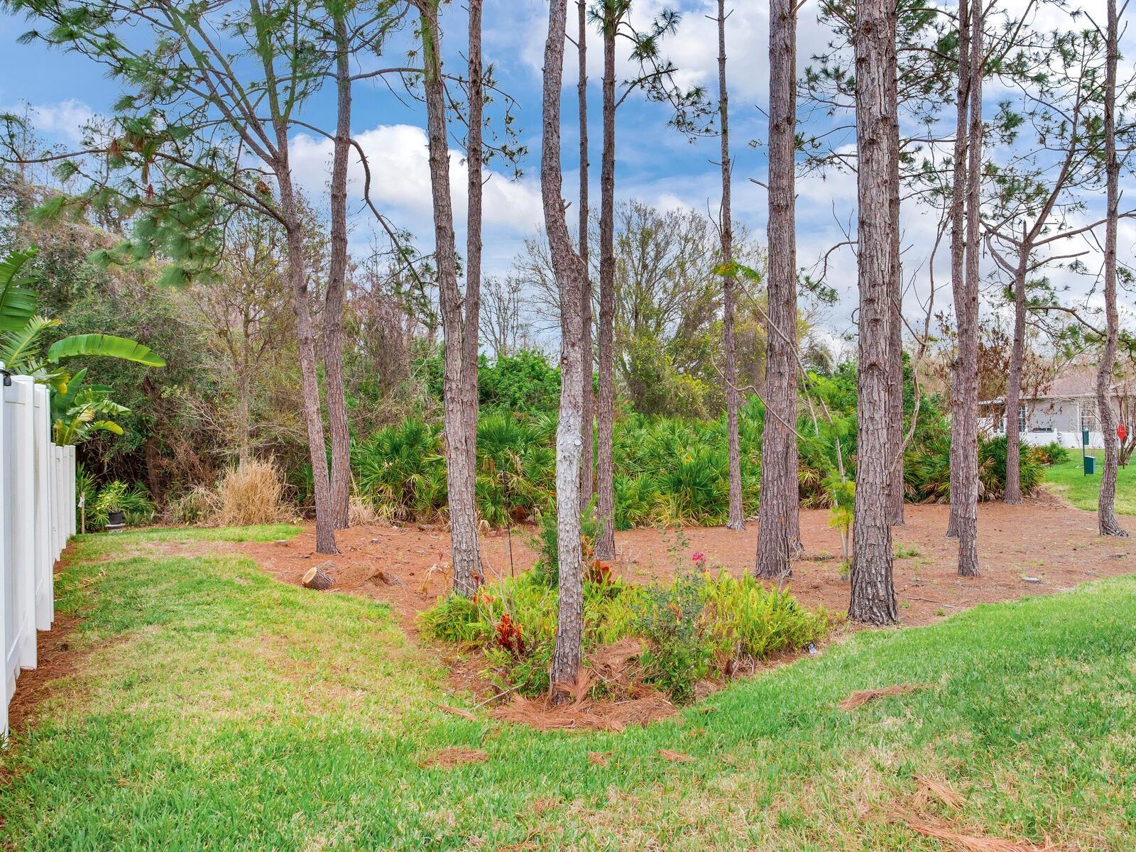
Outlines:
[[[462,319],[462,299],[458,290],[453,203],[450,192],[450,151],[445,128],[445,89],[442,78],[441,31],[437,25],[438,0],[423,0],[417,6],[421,18],[426,135],[434,209],[434,258],[437,265],[445,354],[442,398],[453,588],[458,594],[471,595],[481,575],[477,507],[474,494],[475,470],[470,463],[476,452],[477,423],[476,412],[469,407],[466,392],[468,327]],[[476,341],[474,348],[476,351]],[[473,381],[476,389],[476,376]]]

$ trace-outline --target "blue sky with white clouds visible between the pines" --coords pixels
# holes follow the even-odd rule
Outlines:
[[[1103,2],[1087,0],[1089,5]],[[1003,0],[1010,8],[1024,0]],[[637,0],[634,20],[646,23],[663,8],[660,0]],[[717,87],[716,24],[707,16],[716,10],[710,0],[680,0],[668,3],[683,12],[678,33],[663,43],[663,52],[679,68],[685,84]],[[799,28],[799,65],[803,68],[810,56],[824,49],[828,34],[816,20],[816,1],[809,0],[801,12]],[[728,74],[730,78],[730,122],[734,137],[735,218],[744,223],[758,239],[763,239],[766,220],[765,190],[750,178],[765,181],[766,160],[760,140],[766,132],[759,105],[767,102],[767,31],[765,3],[737,0],[727,31]],[[452,3],[443,14],[443,40],[453,73],[460,73],[465,33],[463,6]],[[569,28],[575,31],[575,3],[569,2]],[[1046,18],[1056,23],[1056,18]],[[0,16],[0,107],[12,108],[20,102],[32,105],[42,135],[52,142],[67,143],[76,139],[78,125],[87,117],[105,111],[118,97],[117,85],[101,75],[89,60],[47,51],[40,44],[17,44],[17,36],[28,24],[10,15]],[[541,64],[546,26],[546,3],[540,0],[486,0],[485,55],[496,69],[498,81],[518,102],[518,124],[529,156],[521,164],[524,175],[512,181],[508,170],[494,174],[485,195],[485,272],[504,274],[525,237],[537,232],[541,224],[540,191],[536,162],[540,156]],[[1133,39],[1126,42],[1131,45]],[[392,45],[392,57],[400,57],[408,42]],[[599,37],[590,50],[590,109],[592,198],[599,200],[600,160],[600,91],[601,56]],[[1128,50],[1136,55],[1136,50]],[[575,51],[568,45],[563,99],[565,193],[575,201],[578,183],[576,150]],[[621,68],[630,67],[621,59]],[[1124,76],[1124,75],[1121,75]],[[991,102],[997,93],[991,94]],[[424,117],[419,105],[404,103],[382,84],[362,83],[356,91],[353,132],[371,160],[375,195],[382,209],[398,225],[411,231],[424,245],[432,236],[428,175],[426,172]],[[306,120],[332,126],[334,102],[327,97],[312,101]],[[667,126],[667,110],[633,95],[618,114],[617,193],[663,208],[686,207],[704,212],[717,209],[719,175],[717,139],[690,142]],[[951,119],[951,116],[946,116]],[[825,119],[815,119],[825,120]],[[851,142],[851,140],[849,140]],[[326,194],[329,143],[298,133],[293,157],[300,183],[317,200]],[[454,209],[458,215],[459,245],[463,241],[465,185],[458,152],[453,152]],[[502,168],[500,165],[498,168]],[[842,227],[854,226],[855,178],[852,175],[813,175],[799,181],[797,241],[799,265],[811,266],[830,245],[844,240]],[[354,200],[358,214],[352,217],[353,251],[362,252],[370,243],[374,225]],[[573,219],[574,211],[569,212]],[[910,203],[903,211],[904,278],[909,283],[908,312],[921,314],[919,302],[928,291],[927,248],[934,235],[936,217],[920,206]],[[1131,259],[1136,229],[1124,227],[1121,256]],[[836,287],[838,304],[828,310],[824,321],[834,335],[847,332],[855,306],[855,267],[850,250],[833,257],[829,284]],[[936,264],[936,278],[946,281],[945,252]],[[1078,284],[1084,286],[1084,284]],[[950,302],[949,287],[936,294],[936,304]]]

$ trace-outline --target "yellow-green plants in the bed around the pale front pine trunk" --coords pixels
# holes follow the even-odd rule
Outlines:
[[[701,554],[695,554],[701,557]],[[695,567],[704,566],[704,558]],[[473,599],[450,595],[419,617],[435,638],[484,650],[503,686],[534,695],[549,690],[556,646],[557,592],[541,571],[482,586]],[[683,573],[669,584],[636,586],[591,570],[584,580],[584,660],[596,649],[640,637],[644,680],[682,703],[698,682],[736,662],[753,663],[827,635],[824,609],[810,611],[788,592],[725,571]]]

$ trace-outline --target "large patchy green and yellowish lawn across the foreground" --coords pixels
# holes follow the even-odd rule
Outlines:
[[[1136,578],[861,632],[649,728],[541,734],[438,709],[462,698],[386,608],[136,556],[148,535],[123,558],[89,536],[59,576],[85,654],[0,757],[0,847],[952,849],[887,818],[916,775],[964,796],[921,805],[959,830],[1136,847]],[[892,684],[928,688],[836,707]],[[444,746],[488,759],[424,768]]]

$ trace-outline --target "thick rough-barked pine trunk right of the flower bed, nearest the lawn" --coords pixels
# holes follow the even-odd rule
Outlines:
[[[887,395],[892,310],[892,212],[888,197],[896,115],[888,81],[896,73],[895,0],[859,0],[855,8],[857,228],[860,289],[857,367],[857,487],[852,526],[849,618],[885,625],[897,620],[892,580],[888,507]]]

